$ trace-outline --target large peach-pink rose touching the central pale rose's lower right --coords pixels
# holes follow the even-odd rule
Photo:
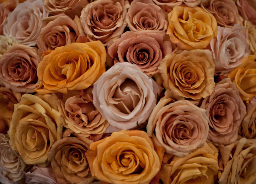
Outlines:
[[[208,120],[206,110],[167,90],[149,117],[147,133],[166,153],[182,157],[204,145]]]

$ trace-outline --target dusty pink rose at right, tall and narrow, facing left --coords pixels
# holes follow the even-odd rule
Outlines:
[[[246,115],[246,107],[235,83],[229,78],[218,82],[213,93],[203,100],[201,108],[207,110],[209,117],[208,139],[216,145],[235,143]]]

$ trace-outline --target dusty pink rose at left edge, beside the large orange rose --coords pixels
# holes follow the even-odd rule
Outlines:
[[[40,84],[37,77],[40,61],[32,47],[14,44],[0,59],[0,81],[16,93],[33,93]]]

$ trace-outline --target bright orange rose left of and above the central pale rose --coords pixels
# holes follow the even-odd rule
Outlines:
[[[84,90],[105,72],[106,50],[100,41],[71,43],[44,56],[38,66],[39,94]]]

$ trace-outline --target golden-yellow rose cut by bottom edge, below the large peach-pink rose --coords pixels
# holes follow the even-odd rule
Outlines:
[[[206,142],[187,156],[165,154],[160,179],[164,184],[214,184],[219,169],[218,152]]]

